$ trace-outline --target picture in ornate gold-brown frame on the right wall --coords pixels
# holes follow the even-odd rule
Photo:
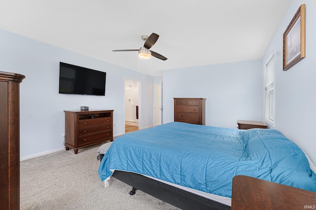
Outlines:
[[[305,4],[302,4],[283,33],[283,71],[305,58]]]

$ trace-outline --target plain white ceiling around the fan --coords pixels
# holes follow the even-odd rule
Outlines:
[[[152,76],[261,59],[292,0],[0,0],[0,29]],[[285,30],[285,29],[284,29]],[[138,59],[143,34],[168,60]]]

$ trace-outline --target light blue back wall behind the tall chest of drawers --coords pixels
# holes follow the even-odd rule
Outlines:
[[[237,128],[261,120],[261,60],[163,71],[163,123],[174,120],[173,98],[206,98],[205,124]]]

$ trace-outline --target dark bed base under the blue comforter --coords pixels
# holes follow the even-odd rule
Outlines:
[[[103,155],[101,155],[101,160],[102,157]],[[131,190],[130,195],[135,194],[135,190],[139,189],[182,210],[231,210],[231,207],[225,204],[150,179],[140,174],[115,171],[112,177],[132,186],[133,189]]]

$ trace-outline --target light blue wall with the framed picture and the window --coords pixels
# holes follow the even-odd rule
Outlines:
[[[306,6],[306,58],[287,71],[283,71],[283,33],[303,3]],[[264,66],[270,55],[275,53],[275,128],[303,149],[314,163],[316,163],[315,23],[316,1],[293,0],[262,60]],[[264,68],[262,72],[264,74]]]

